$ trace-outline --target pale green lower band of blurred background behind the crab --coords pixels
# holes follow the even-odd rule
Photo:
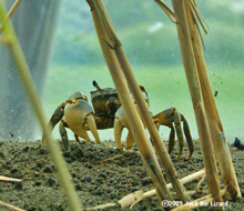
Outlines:
[[[166,108],[175,107],[185,115],[194,138],[197,138],[194,111],[183,67],[133,67],[138,82],[143,84],[149,92],[152,113],[157,113]],[[244,82],[243,70],[237,67],[209,67],[220,117],[230,142],[235,137],[244,138]],[[44,109],[48,118],[54,109],[74,91],[82,91],[89,97],[94,90],[92,80],[100,87],[114,87],[106,66],[52,66],[47,76],[43,94]],[[57,127],[58,128],[58,127]],[[164,139],[169,130],[161,128]],[[58,130],[54,130],[59,138]],[[102,139],[113,139],[112,130],[100,131]],[[70,137],[73,139],[73,137]]]

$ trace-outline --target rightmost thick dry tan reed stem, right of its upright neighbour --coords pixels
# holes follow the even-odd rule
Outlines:
[[[190,9],[191,8],[187,6],[186,14],[192,38],[194,57],[197,58],[196,67],[202,88],[203,102],[206,111],[207,122],[211,128],[212,141],[214,144],[215,154],[225,184],[226,195],[234,200],[236,198],[241,198],[241,191],[235,175],[235,170],[232,163],[227,141],[225,139],[223,125],[217,112],[210,79],[207,76],[205,59],[201,48],[201,38],[197,30],[197,22],[193,21],[195,11],[192,11]]]

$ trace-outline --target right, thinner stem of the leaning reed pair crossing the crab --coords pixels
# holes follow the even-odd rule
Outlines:
[[[136,82],[133,70],[132,70],[130,62],[123,51],[122,44],[115,34],[115,30],[113,29],[113,26],[112,26],[111,20],[105,11],[105,8],[101,3],[101,1],[96,2],[95,8],[98,11],[100,11],[100,13],[99,13],[100,19],[102,19],[102,23],[104,24],[104,29],[105,29],[105,34],[108,34],[108,37],[109,37],[109,40],[106,40],[106,42],[110,42],[110,46],[113,46],[118,61],[121,66],[121,69],[124,72],[124,76],[126,78],[130,90],[133,93],[135,102],[136,102],[139,110],[141,112],[142,121],[145,122],[145,125],[150,132],[150,135],[151,135],[152,140],[154,141],[155,149],[156,149],[159,157],[161,159],[161,162],[166,171],[166,174],[167,174],[171,183],[173,184],[173,187],[177,193],[179,199],[183,202],[186,202],[190,200],[190,197],[187,195],[183,184],[179,180],[179,175],[177,175],[177,173],[173,167],[173,163],[170,159],[170,155],[163,144],[162,138],[160,137],[160,134],[156,130],[156,127],[152,120],[152,117],[149,111],[149,107],[145,103],[144,97],[139,88],[139,84]]]

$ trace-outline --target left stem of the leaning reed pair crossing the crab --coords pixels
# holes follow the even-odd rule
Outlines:
[[[169,189],[166,188],[166,183],[163,178],[162,171],[160,169],[159,162],[156,160],[156,155],[153,151],[152,143],[150,142],[150,139],[144,131],[142,121],[139,117],[132,97],[130,94],[130,90],[128,88],[125,77],[121,70],[121,66],[118,61],[116,54],[112,46],[113,43],[110,42],[111,37],[109,37],[110,34],[108,34],[106,31],[104,30],[103,23],[105,20],[101,19],[102,17],[99,16],[99,13],[101,14],[103,12],[101,10],[98,11],[99,9],[101,9],[101,7],[98,7],[98,3],[101,4],[101,1],[88,0],[88,2],[91,7],[94,26],[98,32],[103,56],[105,58],[113,82],[118,90],[120,100],[124,108],[125,115],[129,117],[128,120],[133,131],[133,137],[139,147],[139,150],[146,165],[149,174],[151,175],[152,181],[155,185],[159,201],[161,204],[161,201],[163,199],[172,200],[172,197],[170,194]]]

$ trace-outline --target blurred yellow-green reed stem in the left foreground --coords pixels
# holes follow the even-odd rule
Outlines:
[[[29,67],[27,64],[27,61],[24,59],[23,52],[21,50],[21,47],[19,44],[19,41],[17,39],[16,32],[13,30],[13,27],[9,19],[6,19],[6,9],[3,7],[2,0],[0,0],[0,19],[3,21],[3,30],[6,33],[6,37],[10,40],[9,49],[12,53],[12,57],[16,61],[17,69],[19,71],[19,74],[22,79],[22,82],[26,87],[26,90],[28,92],[28,96],[30,98],[30,101],[33,105],[33,109],[35,111],[35,114],[38,115],[39,122],[41,127],[44,130],[44,134],[48,141],[48,145],[50,149],[51,158],[57,167],[58,175],[60,179],[60,183],[63,187],[65,194],[69,199],[69,204],[71,207],[71,210],[81,211],[81,205],[79,202],[78,194],[74,190],[74,185],[72,183],[71,175],[67,169],[65,162],[63,157],[61,155],[60,147],[54,140],[51,138],[51,129],[50,127],[47,127],[47,120],[44,118],[44,112],[41,107],[41,101],[37,94],[37,90],[34,87],[34,82],[32,80]]]

